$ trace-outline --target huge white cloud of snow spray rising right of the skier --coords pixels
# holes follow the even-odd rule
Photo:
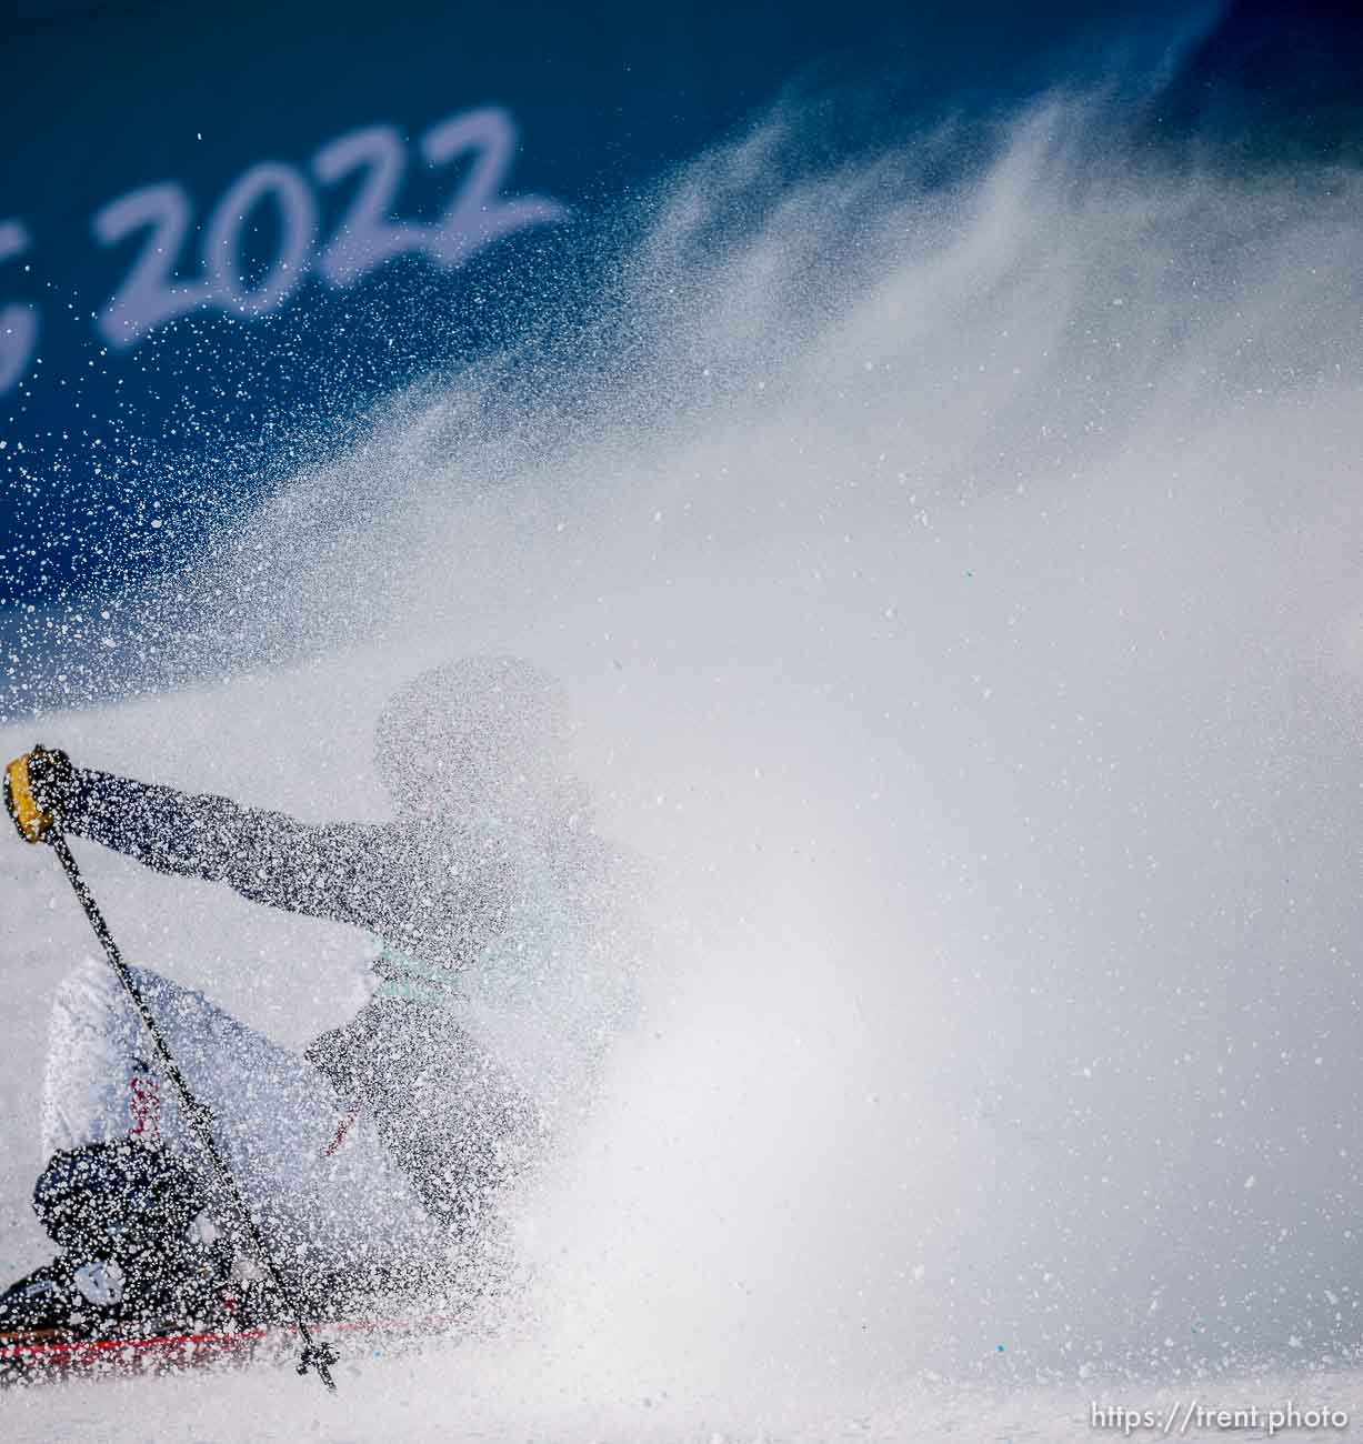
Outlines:
[[[702,159],[591,325],[176,583],[182,666],[286,671],[92,758],[355,814],[420,666],[566,680],[658,946],[517,1203],[527,1317],[462,1350],[508,1419],[798,1432],[1359,1336],[1363,193],[1105,130]]]

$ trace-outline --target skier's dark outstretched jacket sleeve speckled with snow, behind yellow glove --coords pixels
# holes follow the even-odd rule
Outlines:
[[[253,902],[386,931],[410,888],[393,832],[313,826],[227,797],[77,768],[62,825],[157,872],[225,882]]]

